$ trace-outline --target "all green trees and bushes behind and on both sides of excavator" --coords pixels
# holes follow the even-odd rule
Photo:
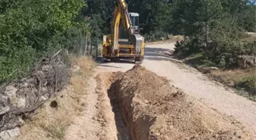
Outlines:
[[[0,79],[26,76],[43,56],[60,48],[75,51],[94,31],[110,33],[114,0],[2,0],[0,2]],[[203,55],[204,64],[229,68],[239,54],[255,55],[256,7],[244,0],[127,0],[140,14],[147,41],[188,36],[175,53]]]

